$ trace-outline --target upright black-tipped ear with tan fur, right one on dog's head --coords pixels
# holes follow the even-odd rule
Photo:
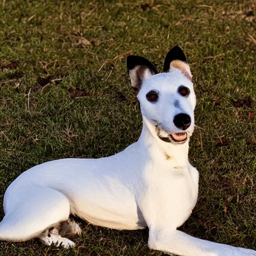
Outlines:
[[[174,72],[176,68],[179,69],[189,80],[192,80],[186,56],[178,45],[172,47],[168,51],[163,64],[163,72]]]

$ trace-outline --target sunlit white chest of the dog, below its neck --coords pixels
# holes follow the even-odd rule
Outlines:
[[[195,206],[198,172],[193,167],[157,170],[149,174],[147,192],[152,210],[157,208],[157,219],[176,228],[185,222]]]

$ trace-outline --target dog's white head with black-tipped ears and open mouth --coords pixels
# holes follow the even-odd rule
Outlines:
[[[187,141],[194,128],[195,94],[183,51],[177,45],[169,50],[162,73],[141,56],[127,56],[126,62],[143,119],[151,130],[166,142]]]

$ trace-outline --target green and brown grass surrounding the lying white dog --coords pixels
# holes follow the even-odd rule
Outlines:
[[[108,156],[134,142],[141,116],[125,56],[143,55],[161,70],[178,44],[191,64],[201,127],[189,151],[200,172],[198,202],[180,229],[256,249],[253,0],[3,0],[0,13],[1,200],[35,164]],[[73,249],[34,239],[0,242],[0,255],[150,254],[146,229],[79,222]]]

